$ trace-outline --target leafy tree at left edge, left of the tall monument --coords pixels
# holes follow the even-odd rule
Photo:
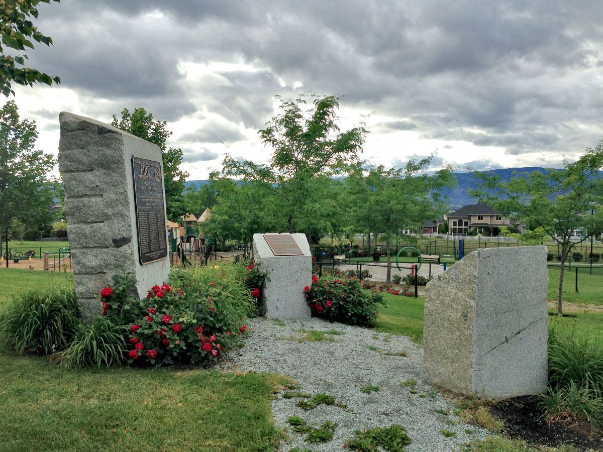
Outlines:
[[[6,251],[13,218],[27,225],[37,216],[51,217],[53,184],[46,174],[55,162],[52,155],[34,150],[36,139],[36,123],[19,121],[17,106],[6,102],[0,110],[0,231]]]

